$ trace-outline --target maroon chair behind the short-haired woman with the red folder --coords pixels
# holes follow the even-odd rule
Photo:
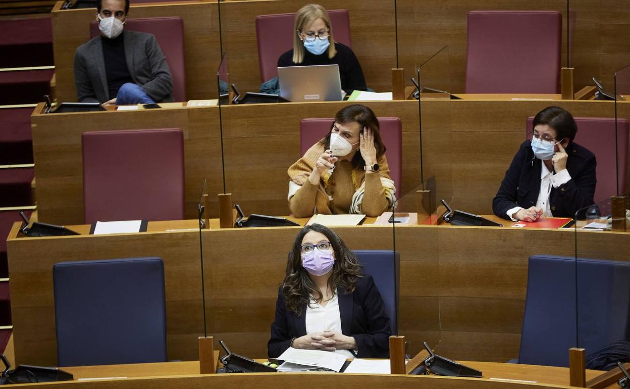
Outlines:
[[[617,168],[619,169],[619,192],[626,192],[628,141],[630,124],[627,119],[619,119],[617,127],[617,144],[619,160],[615,153],[615,119],[607,117],[575,117],[578,133],[575,142],[592,151],[597,159],[597,187],[595,202],[602,201],[617,194]],[[527,118],[527,139],[532,139],[534,117]],[[571,156],[569,156],[571,158]]]

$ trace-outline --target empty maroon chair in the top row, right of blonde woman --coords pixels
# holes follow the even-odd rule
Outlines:
[[[558,93],[558,11],[470,11],[466,93]]]

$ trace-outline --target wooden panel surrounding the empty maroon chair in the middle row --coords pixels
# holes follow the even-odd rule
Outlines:
[[[179,128],[184,133],[186,218],[197,218],[204,178],[208,178],[210,193],[222,192],[218,107],[91,113],[96,115],[59,113],[31,118],[40,221],[84,223],[81,134],[86,131]],[[216,197],[210,200],[217,209]]]

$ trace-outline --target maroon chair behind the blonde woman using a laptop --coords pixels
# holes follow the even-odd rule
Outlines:
[[[328,11],[328,16],[330,16],[335,40],[352,47],[348,10],[332,9]],[[294,20],[295,13],[256,16],[261,82],[278,76],[278,57],[285,51],[293,49]]]

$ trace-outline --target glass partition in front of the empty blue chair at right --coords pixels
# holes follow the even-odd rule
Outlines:
[[[576,347],[586,349],[588,369],[609,369],[601,357],[589,356],[626,336],[630,193],[576,212],[574,260]]]

